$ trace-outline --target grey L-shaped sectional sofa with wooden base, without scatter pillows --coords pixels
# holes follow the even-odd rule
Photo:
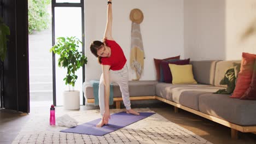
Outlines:
[[[197,84],[162,83],[157,81],[130,81],[131,100],[158,99],[178,109],[187,110],[231,128],[231,137],[237,132],[256,133],[256,101],[229,98],[227,94],[213,94],[226,86],[219,85],[226,70],[241,61],[193,61],[193,74]],[[93,88],[84,85],[87,103],[94,103]],[[114,83],[114,101],[120,109],[121,92]]]

